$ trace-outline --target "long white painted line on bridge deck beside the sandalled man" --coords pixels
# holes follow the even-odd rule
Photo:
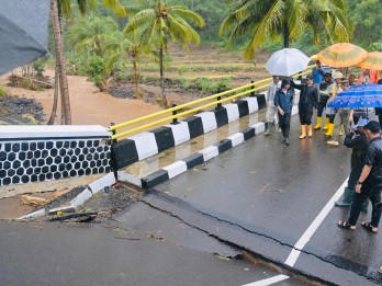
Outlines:
[[[340,196],[342,195],[345,186],[348,183],[348,179],[345,180],[342,185],[337,190],[337,192],[334,194],[334,196],[330,198],[330,201],[327,202],[326,206],[323,208],[323,210],[321,210],[318,216],[313,220],[313,222],[306,229],[304,234],[300,238],[297,243],[295,243],[292,252],[289,254],[289,256],[288,256],[288,259],[285,261],[286,265],[293,266],[294,263],[297,261],[299,255],[301,253],[300,250],[302,250],[305,247],[305,244],[311,240],[311,238],[314,234],[314,232],[317,230],[317,228],[323,222],[325,217],[329,214],[329,211],[333,208],[335,202],[338,201],[340,198]]]

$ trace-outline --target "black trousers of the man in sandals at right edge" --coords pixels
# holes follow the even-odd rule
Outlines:
[[[373,186],[371,183],[364,182],[361,186],[361,193],[353,193],[350,216],[348,219],[349,225],[356,226],[358,217],[362,210],[363,202],[370,199],[372,205],[370,224],[374,228],[378,228],[381,219],[382,208],[378,209],[375,204],[381,202],[381,191],[382,186]]]

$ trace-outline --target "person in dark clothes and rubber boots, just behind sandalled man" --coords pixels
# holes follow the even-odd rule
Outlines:
[[[335,205],[337,207],[349,207],[351,205],[351,198],[356,192],[357,180],[362,172],[364,165],[367,149],[369,140],[366,136],[364,125],[368,119],[362,118],[345,137],[344,145],[347,148],[351,148],[350,157],[350,175],[348,180],[348,186],[345,187],[344,197],[341,201],[337,201]],[[368,213],[369,201],[366,201],[362,205],[362,211]]]

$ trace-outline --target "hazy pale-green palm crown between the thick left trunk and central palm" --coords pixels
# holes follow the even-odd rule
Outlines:
[[[116,22],[111,18],[82,16],[75,22],[68,33],[68,41],[76,52],[90,52],[102,57],[105,37],[117,31]]]

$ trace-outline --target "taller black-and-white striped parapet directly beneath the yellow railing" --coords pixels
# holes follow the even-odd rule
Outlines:
[[[237,100],[222,107],[189,116],[179,124],[168,124],[117,141],[112,146],[113,170],[121,170],[134,162],[157,155],[223,125],[247,116],[263,107],[265,94]]]

